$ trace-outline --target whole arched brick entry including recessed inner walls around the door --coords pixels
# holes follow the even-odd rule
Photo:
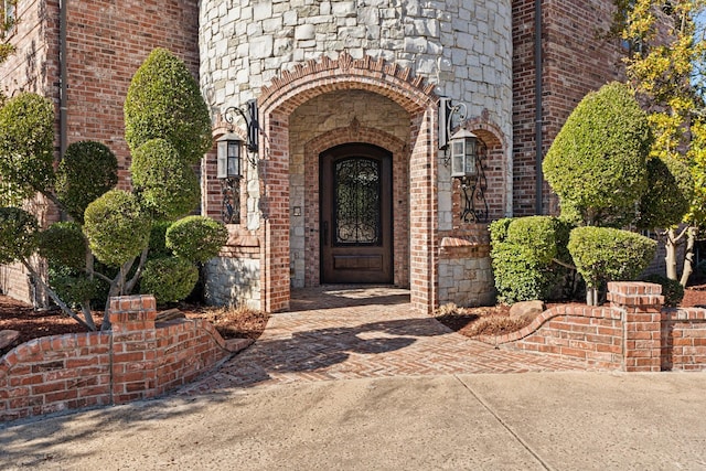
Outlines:
[[[359,143],[391,156],[392,280],[410,288],[415,308],[434,309],[438,111],[432,87],[382,60],[342,55],[282,73],[263,88],[258,103],[266,149],[259,169],[264,308],[287,309],[292,286],[321,282],[320,156]]]

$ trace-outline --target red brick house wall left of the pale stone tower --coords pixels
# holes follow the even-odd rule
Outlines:
[[[67,141],[106,143],[118,157],[119,186],[129,186],[129,152],[122,104],[132,75],[154,47],[171,50],[199,74],[199,8],[195,0],[71,1],[67,10]],[[20,23],[11,38],[17,53],[0,65],[0,86],[8,96],[34,92],[56,104],[58,157],[57,0],[20,0]],[[55,208],[36,213],[57,221]],[[0,267],[0,291],[32,302],[26,275],[19,266]],[[39,303],[44,299],[40,296]]]

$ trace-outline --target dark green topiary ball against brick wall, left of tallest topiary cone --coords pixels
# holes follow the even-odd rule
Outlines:
[[[107,146],[74,142],[66,148],[56,171],[56,197],[79,223],[88,204],[118,183],[118,159]]]

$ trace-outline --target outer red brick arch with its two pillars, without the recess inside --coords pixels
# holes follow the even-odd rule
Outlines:
[[[409,285],[415,308],[430,311],[437,302],[436,142],[438,98],[434,86],[408,68],[366,56],[343,53],[285,71],[261,89],[258,98],[265,149],[260,161],[263,189],[261,275],[263,308],[287,309],[290,293],[289,245],[289,118],[306,101],[336,90],[365,90],[386,97],[409,116]]]

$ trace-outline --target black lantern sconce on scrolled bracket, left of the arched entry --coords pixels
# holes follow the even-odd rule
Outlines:
[[[245,141],[234,132],[236,117],[245,121]],[[223,118],[228,124],[228,132],[216,140],[216,176],[221,180],[223,191],[221,213],[224,223],[236,224],[239,221],[243,162],[247,160],[250,165],[257,167],[257,101],[249,100],[245,110],[232,106],[223,113]]]

